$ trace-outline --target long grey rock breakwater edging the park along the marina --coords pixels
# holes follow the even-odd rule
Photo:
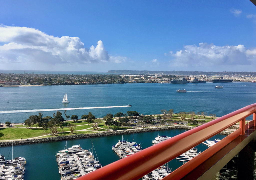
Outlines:
[[[92,134],[79,134],[79,135],[70,135],[70,136],[58,136],[58,137],[46,137],[40,139],[29,139],[29,140],[20,140],[20,141],[7,141],[0,142],[0,147],[2,146],[11,146],[13,145],[23,145],[23,144],[34,144],[34,143],[47,143],[54,141],[67,141],[74,139],[85,139],[92,137],[102,137],[102,136],[113,136],[113,135],[122,135],[122,134],[132,134],[132,133],[143,133],[143,132],[151,132],[151,131],[164,131],[171,129],[185,129],[190,130],[194,127],[184,126],[184,125],[175,125],[175,126],[164,126],[164,127],[154,127],[154,128],[142,128],[142,129],[131,129],[131,130],[119,130],[119,131],[104,131],[99,133]],[[229,135],[231,132],[222,131],[220,134]]]

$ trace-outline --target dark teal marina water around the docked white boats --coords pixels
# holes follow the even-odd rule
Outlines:
[[[177,134],[184,132],[185,130],[169,130],[169,131],[159,131],[159,132],[147,132],[147,133],[136,133],[134,134],[134,142],[140,143],[142,148],[145,149],[152,145],[151,141],[159,135],[167,135],[173,137]],[[223,139],[225,136],[216,135],[211,138],[214,139]],[[83,149],[91,148],[91,141],[95,147],[98,158],[103,166],[110,164],[114,161],[119,160],[117,156],[112,151],[112,145],[116,144],[118,139],[122,139],[122,136],[107,136],[107,137],[98,137],[90,139],[79,139],[67,141],[67,147],[72,145],[80,144]],[[124,135],[124,139],[132,141],[132,134]],[[56,162],[55,153],[59,150],[64,149],[66,141],[60,142],[51,142],[51,143],[40,143],[40,144],[29,144],[22,146],[14,146],[14,157],[22,156],[27,160],[26,171],[24,180],[45,180],[45,179],[60,179],[58,173],[58,165]],[[104,148],[102,148],[104,147]],[[207,146],[200,144],[197,146],[198,150],[203,151],[207,149]],[[94,150],[93,150],[94,151]],[[12,158],[11,147],[1,147],[0,152],[6,158]],[[95,155],[95,154],[94,154]],[[182,162],[174,159],[169,163],[169,167],[172,167],[173,170],[182,165]]]

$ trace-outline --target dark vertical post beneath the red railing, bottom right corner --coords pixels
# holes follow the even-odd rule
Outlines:
[[[254,163],[254,140],[247,144],[238,153],[238,174],[237,179],[253,179],[253,163]]]

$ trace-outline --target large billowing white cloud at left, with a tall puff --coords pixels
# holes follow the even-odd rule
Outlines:
[[[103,42],[84,48],[79,37],[54,37],[28,27],[0,25],[0,62],[2,63],[121,63],[123,57],[110,57]]]

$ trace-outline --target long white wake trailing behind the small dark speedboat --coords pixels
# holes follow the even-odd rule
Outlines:
[[[77,110],[77,109],[99,109],[99,108],[122,108],[124,106],[100,106],[100,107],[82,107],[82,108],[56,108],[56,109],[26,109],[26,110],[11,110],[11,111],[0,111],[0,114],[7,113],[22,113],[22,112],[44,112],[44,111],[64,111],[64,110]]]

